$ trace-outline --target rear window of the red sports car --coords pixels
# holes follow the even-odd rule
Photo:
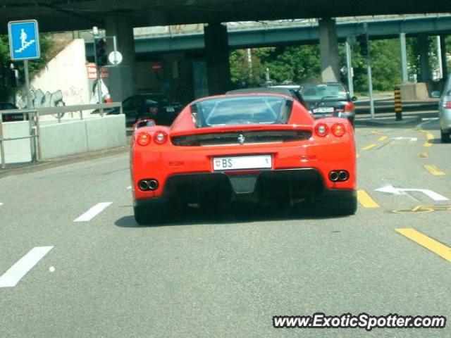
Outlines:
[[[197,101],[191,111],[197,127],[286,124],[292,103],[275,95],[229,96]]]

